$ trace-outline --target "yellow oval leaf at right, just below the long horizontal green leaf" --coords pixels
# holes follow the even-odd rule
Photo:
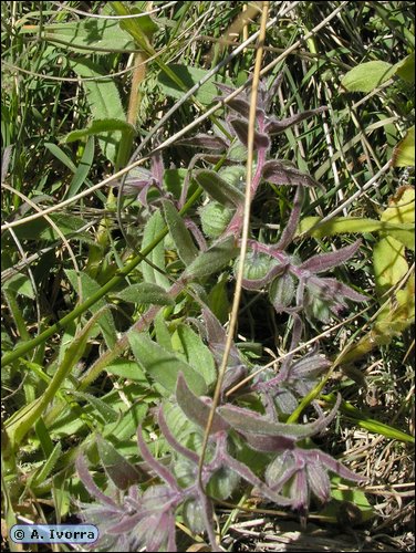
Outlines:
[[[393,237],[383,238],[374,247],[373,267],[376,292],[382,296],[408,271],[405,247]]]

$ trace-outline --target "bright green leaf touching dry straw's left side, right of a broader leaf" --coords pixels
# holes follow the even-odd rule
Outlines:
[[[187,363],[204,376],[208,387],[217,379],[214,357],[202,340],[189,326],[181,324],[171,336],[175,352],[180,353]]]

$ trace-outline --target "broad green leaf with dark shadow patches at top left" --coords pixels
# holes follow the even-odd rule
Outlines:
[[[38,27],[32,32],[39,30]],[[67,45],[73,52],[82,54],[94,50],[97,55],[113,51],[133,51],[134,42],[128,33],[121,29],[118,21],[87,18],[69,23],[55,23],[43,27],[43,38],[50,42]],[[62,43],[62,44],[61,44]]]

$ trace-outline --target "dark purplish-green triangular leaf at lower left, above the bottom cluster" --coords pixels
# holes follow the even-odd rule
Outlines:
[[[96,441],[104,470],[119,490],[127,490],[131,486],[147,480],[148,476],[129,463],[112,444],[100,435]]]

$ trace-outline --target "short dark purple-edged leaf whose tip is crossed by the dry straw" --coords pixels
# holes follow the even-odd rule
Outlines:
[[[208,421],[210,406],[205,404],[199,397],[195,396],[186,384],[183,374],[178,376],[176,387],[176,399],[185,415],[196,425],[205,428]],[[215,414],[210,434],[217,434],[229,429],[228,422]]]

